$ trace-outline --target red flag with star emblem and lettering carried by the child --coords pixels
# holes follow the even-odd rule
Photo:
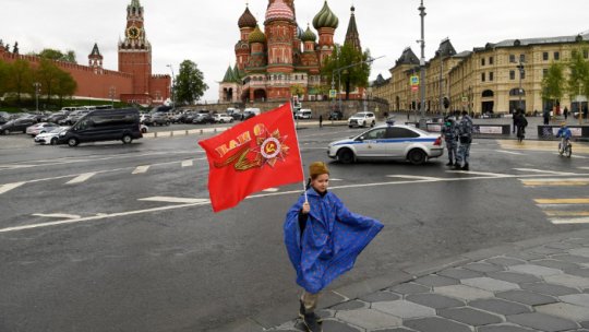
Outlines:
[[[253,192],[304,179],[290,104],[199,144],[208,158],[215,212],[236,206]]]

